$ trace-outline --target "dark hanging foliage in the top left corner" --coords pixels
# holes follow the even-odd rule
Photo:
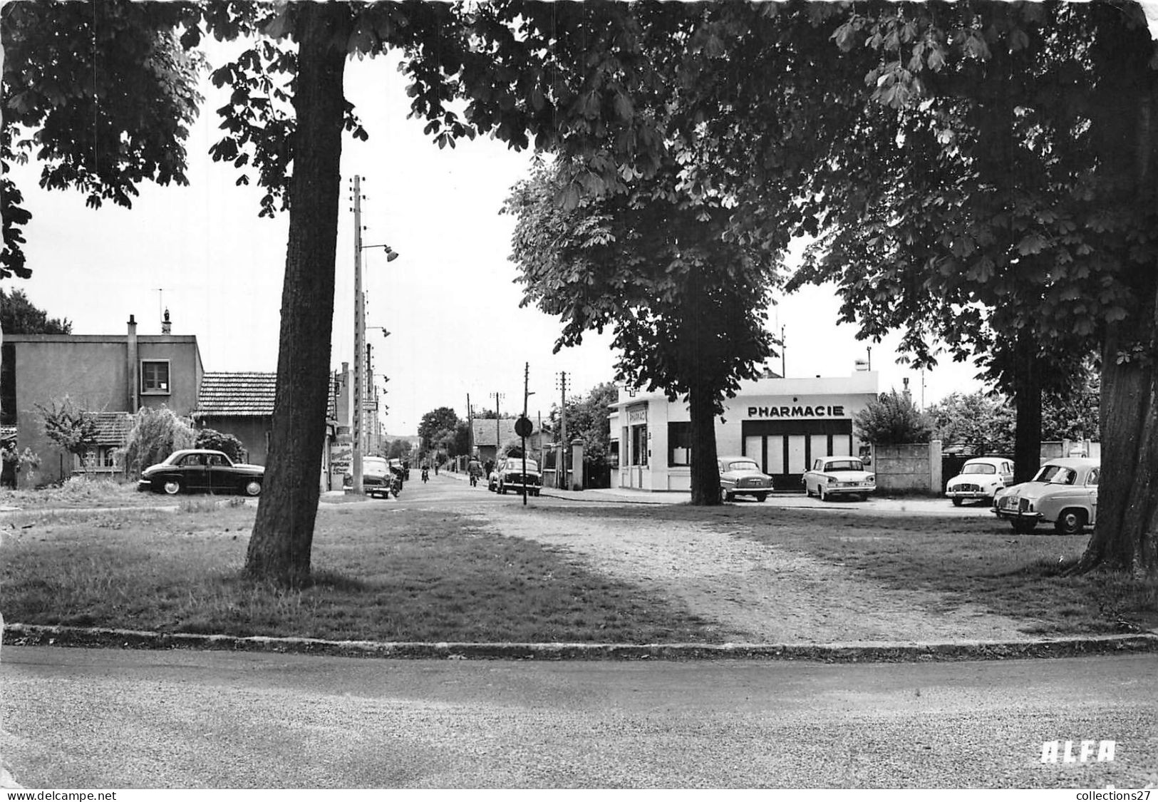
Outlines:
[[[178,27],[185,3],[5,3],[3,254],[0,277],[27,278],[22,226],[31,216],[8,177],[13,161],[34,156],[41,187],[78,189],[89,206],[131,206],[142,181],[188,183],[182,143],[201,97],[203,61]]]

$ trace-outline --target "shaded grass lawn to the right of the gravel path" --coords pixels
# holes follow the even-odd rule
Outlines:
[[[559,515],[598,516],[567,509]],[[897,589],[943,593],[946,606],[974,603],[1016,619],[1040,619],[1043,635],[1111,634],[1158,629],[1158,583],[1117,574],[1064,576],[1085,551],[1089,534],[1053,528],[1014,534],[995,518],[867,516],[774,509],[755,504],[692,508],[620,508],[616,517],[699,520],[758,542],[845,566]]]

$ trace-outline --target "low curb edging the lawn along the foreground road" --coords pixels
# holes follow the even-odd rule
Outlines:
[[[1158,651],[1158,634],[1101,635],[1023,642],[951,643],[427,643],[327,641],[312,637],[234,637],[190,633],[9,624],[7,646],[119,649],[201,649],[378,657],[396,659],[767,659],[820,663],[921,663],[952,661],[1078,657]]]

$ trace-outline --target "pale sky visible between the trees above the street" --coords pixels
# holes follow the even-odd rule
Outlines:
[[[219,63],[221,51],[211,52]],[[364,257],[366,325],[373,345],[375,382],[386,431],[413,435],[422,416],[452,407],[467,416],[475,407],[521,410],[525,366],[527,409],[545,417],[567,394],[584,394],[614,378],[616,353],[609,334],[594,331],[584,343],[552,353],[557,319],[520,308],[516,268],[508,260],[514,218],[499,213],[511,187],[527,175],[532,155],[488,138],[439,150],[408,119],[405,79],[397,59],[347,63],[346,96],[369,133],[346,138],[342,173],[331,367],[353,353],[353,214],[349,185],[362,177],[364,245],[389,245],[400,257],[387,263],[381,249]],[[34,218],[25,227],[30,279],[5,279],[6,291],[23,290],[52,318],[72,321],[74,334],[123,334],[134,315],[139,334],[159,334],[164,308],[173,334],[196,335],[206,371],[277,370],[281,279],[288,218],[258,218],[259,190],[235,185],[239,172],[214,163],[215,109],[225,93],[204,81],[201,115],[188,144],[189,187],[141,184],[132,209],[86,207],[74,191],[37,187],[35,162],[13,177]],[[947,358],[933,371],[896,364],[896,342],[856,340],[852,326],[837,326],[831,285],[807,287],[775,299],[774,331],[785,331],[789,377],[842,377],[858,358],[879,372],[881,392],[902,389],[909,379],[924,406],[954,391],[981,385],[972,364]],[[780,372],[780,359],[770,365]],[[383,376],[389,381],[383,385]]]

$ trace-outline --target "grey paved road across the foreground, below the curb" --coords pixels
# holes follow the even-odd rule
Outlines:
[[[1156,669],[6,647],[0,713],[39,787],[1124,788],[1158,772]],[[1114,760],[1041,763],[1067,739]]]

